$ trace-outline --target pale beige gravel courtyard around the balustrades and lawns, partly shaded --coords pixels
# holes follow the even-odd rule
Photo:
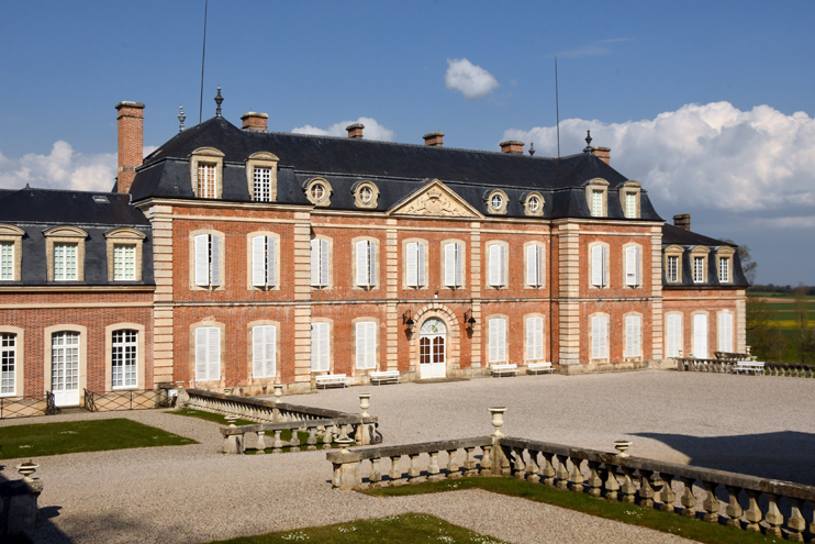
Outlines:
[[[815,485],[815,380],[651,370],[354,387],[292,396],[298,404],[358,411],[373,393],[387,444],[485,435],[488,406],[506,406],[507,435]],[[324,452],[224,456],[217,425],[159,411],[70,414],[130,418],[198,445],[41,457],[45,520],[37,542],[206,542],[408,511],[514,543],[686,542],[484,491],[372,498],[331,489]],[[0,462],[2,477],[16,479]]]

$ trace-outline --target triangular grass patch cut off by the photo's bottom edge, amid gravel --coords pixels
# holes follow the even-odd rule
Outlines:
[[[417,513],[298,529],[258,536],[242,536],[228,541],[213,542],[212,544],[288,544],[290,542],[331,542],[332,544],[395,542],[412,544],[428,541],[503,544],[503,541],[491,536],[475,533],[433,515]]]

